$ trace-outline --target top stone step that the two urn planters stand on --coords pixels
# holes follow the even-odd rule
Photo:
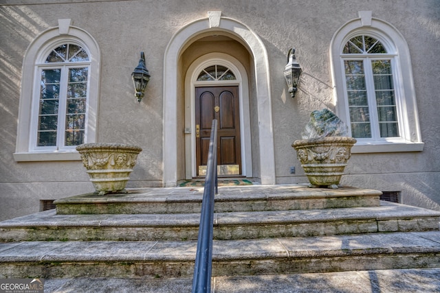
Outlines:
[[[128,194],[83,194],[56,200],[58,214],[200,213],[203,187],[128,189]],[[307,185],[219,187],[214,211],[284,211],[376,207],[381,191]]]

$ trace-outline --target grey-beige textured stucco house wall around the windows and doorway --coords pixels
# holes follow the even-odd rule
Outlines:
[[[44,2],[46,4],[41,4]],[[39,200],[92,191],[80,161],[16,162],[17,116],[26,49],[58,19],[93,36],[101,49],[98,141],[140,145],[144,150],[129,187],[162,184],[164,51],[184,25],[206,18],[210,10],[256,32],[270,63],[277,183],[303,183],[304,172],[291,147],[312,110],[334,109],[329,45],[333,34],[360,10],[394,25],[408,42],[412,58],[423,152],[353,154],[343,183],[401,191],[408,204],[440,209],[440,117],[437,84],[440,67],[440,8],[437,0],[352,1],[57,1],[3,0],[0,4],[0,220],[38,211]],[[29,4],[29,5],[27,5]],[[287,93],[283,69],[296,47],[303,75],[296,97]],[[131,71],[145,51],[151,74],[146,97],[133,97]],[[249,67],[252,62],[249,61]],[[182,86],[188,64],[179,62]],[[250,68],[250,80],[254,80]],[[179,89],[184,95],[184,89]],[[252,95],[252,89],[250,91]],[[251,97],[252,98],[252,97]],[[251,112],[256,113],[255,104]],[[184,104],[179,104],[183,124]],[[252,132],[258,126],[252,124]],[[181,126],[183,131],[184,126]],[[180,142],[180,141],[179,141]],[[183,137],[181,138],[183,145]],[[252,137],[254,152],[258,139]],[[179,150],[179,155],[184,152]],[[255,157],[255,156],[254,156]],[[258,169],[258,162],[255,163]],[[290,174],[291,166],[296,174]],[[184,166],[179,165],[179,174]]]

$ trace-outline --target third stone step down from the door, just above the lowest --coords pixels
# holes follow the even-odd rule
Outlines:
[[[9,242],[0,278],[191,278],[195,241]],[[440,267],[440,231],[214,240],[212,276]]]

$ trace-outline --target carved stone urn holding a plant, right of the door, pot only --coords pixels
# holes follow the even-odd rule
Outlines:
[[[352,137],[320,137],[294,141],[292,146],[312,187],[336,189],[355,143]]]

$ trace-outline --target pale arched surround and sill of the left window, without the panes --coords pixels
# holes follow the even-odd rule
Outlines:
[[[23,59],[19,117],[17,126],[17,144],[14,153],[15,161],[76,161],[80,155],[74,148],[65,150],[36,150],[31,148],[34,129],[32,125],[32,108],[36,98],[35,80],[40,78],[37,65],[41,56],[47,55],[50,48],[61,43],[78,43],[87,50],[91,60],[89,72],[89,97],[87,99],[87,121],[85,143],[96,142],[98,126],[98,99],[100,49],[96,40],[84,30],[71,25],[70,19],[58,20],[58,26],[45,30],[28,47]]]

